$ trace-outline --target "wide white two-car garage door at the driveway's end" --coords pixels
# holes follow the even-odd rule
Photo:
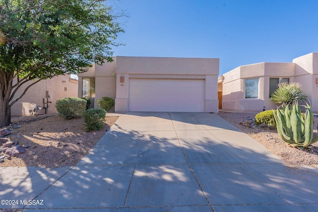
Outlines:
[[[204,112],[203,79],[130,79],[129,111]]]

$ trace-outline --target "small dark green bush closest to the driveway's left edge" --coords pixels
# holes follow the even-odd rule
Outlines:
[[[87,132],[91,130],[100,130],[105,125],[106,111],[104,109],[91,108],[83,112],[84,124]]]

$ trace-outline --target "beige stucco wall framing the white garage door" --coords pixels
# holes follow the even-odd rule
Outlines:
[[[116,57],[115,111],[129,111],[130,78],[205,79],[205,110],[218,112],[219,59]],[[120,83],[120,77],[125,82]]]

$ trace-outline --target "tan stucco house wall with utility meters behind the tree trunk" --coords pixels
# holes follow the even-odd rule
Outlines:
[[[23,93],[25,87],[34,81],[26,82],[15,94],[15,98]],[[78,80],[69,74],[55,76],[32,85],[24,96],[11,107],[11,116],[30,116],[56,113],[55,102],[65,97],[78,96]],[[38,107],[41,110],[36,110]]]

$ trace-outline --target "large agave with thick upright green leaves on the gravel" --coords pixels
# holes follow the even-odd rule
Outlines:
[[[302,115],[298,101],[290,106],[282,105],[273,111],[276,127],[279,137],[289,143],[291,146],[300,149],[309,147],[312,143],[318,141],[318,134],[313,138],[314,114],[311,106],[307,103],[305,116]]]

